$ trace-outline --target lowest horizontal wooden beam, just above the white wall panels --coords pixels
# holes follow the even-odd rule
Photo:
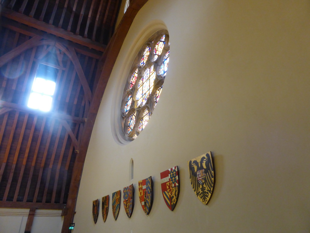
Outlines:
[[[21,201],[0,201],[1,208],[37,208],[37,209],[64,209],[65,204],[60,203],[35,203]],[[68,227],[69,228],[69,227]]]

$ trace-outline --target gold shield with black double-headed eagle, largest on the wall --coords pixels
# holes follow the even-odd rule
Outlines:
[[[211,152],[188,161],[188,170],[194,192],[206,205],[212,195],[215,181]]]

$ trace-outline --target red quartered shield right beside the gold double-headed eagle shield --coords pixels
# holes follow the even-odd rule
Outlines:
[[[162,196],[168,208],[173,211],[179,198],[179,171],[178,166],[160,173]]]

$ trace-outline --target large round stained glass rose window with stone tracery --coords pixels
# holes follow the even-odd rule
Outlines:
[[[168,70],[169,47],[168,33],[159,31],[146,41],[131,66],[122,99],[121,123],[127,141],[144,130],[159,100]]]

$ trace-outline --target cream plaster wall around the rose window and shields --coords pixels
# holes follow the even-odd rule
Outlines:
[[[160,6],[165,7],[160,7]],[[154,10],[155,9],[155,10]],[[131,62],[152,30],[170,34],[160,101],[137,139],[121,144],[120,96]],[[126,37],[105,90],[78,194],[74,233],[309,232],[310,2],[149,0]],[[194,194],[187,161],[212,151],[216,184],[208,205]],[[130,180],[130,161],[134,179]],[[171,212],[160,172],[179,166]],[[154,180],[146,216],[138,181]],[[92,220],[92,200],[133,183],[135,208]]]

